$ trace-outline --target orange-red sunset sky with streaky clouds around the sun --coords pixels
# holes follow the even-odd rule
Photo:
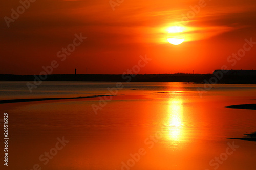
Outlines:
[[[75,68],[85,74],[86,67],[90,74],[122,74],[145,54],[152,60],[139,74],[256,69],[256,44],[247,44],[250,50],[236,64],[227,61],[245,39],[256,43],[256,1],[113,0],[111,6],[108,0],[37,0],[8,27],[4,18],[20,5],[11,0],[0,7],[0,73],[39,74],[56,60],[53,74]],[[177,25],[185,40],[173,45],[168,28]],[[80,33],[87,38],[61,61],[57,53]]]

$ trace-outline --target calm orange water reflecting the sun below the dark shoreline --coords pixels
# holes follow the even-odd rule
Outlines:
[[[104,95],[116,85],[44,82],[30,93],[26,83],[0,82],[1,100]],[[256,103],[256,85],[215,85],[201,97],[203,84],[123,85],[123,95],[101,105],[99,98],[1,104],[2,117],[9,113],[8,169],[256,169],[256,142],[228,139],[255,132],[256,111],[225,108]],[[58,137],[69,141],[59,150]]]

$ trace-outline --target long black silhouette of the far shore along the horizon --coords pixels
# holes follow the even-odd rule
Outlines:
[[[40,75],[0,74],[0,81],[111,81],[111,82],[194,82],[256,84],[256,70],[215,70],[213,74],[52,74],[42,80]],[[42,75],[45,77],[45,75]]]

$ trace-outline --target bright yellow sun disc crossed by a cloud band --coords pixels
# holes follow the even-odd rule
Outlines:
[[[173,45],[179,45],[185,41],[185,36],[183,33],[184,27],[172,26],[168,28],[167,41]]]

